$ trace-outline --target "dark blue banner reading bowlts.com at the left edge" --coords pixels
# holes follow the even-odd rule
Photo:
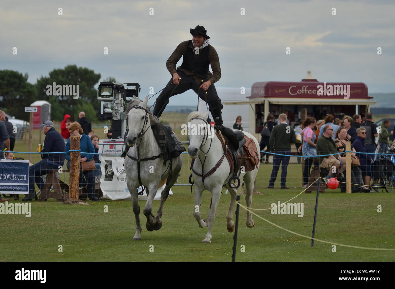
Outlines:
[[[29,161],[0,160],[0,193],[29,192]]]

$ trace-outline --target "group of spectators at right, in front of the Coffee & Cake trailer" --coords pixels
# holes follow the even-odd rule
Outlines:
[[[274,126],[273,114],[267,116],[261,131],[260,150],[274,153],[273,169],[268,189],[274,188],[277,172],[282,165],[281,189],[288,189],[286,186],[287,167],[291,155],[291,145],[295,144],[298,152],[303,153],[303,188],[307,188],[310,170],[314,163],[315,167],[327,170],[324,178],[325,182],[329,178],[336,177],[341,186],[345,187],[346,179],[342,173],[346,170],[346,143],[350,143],[351,153],[351,182],[352,192],[378,192],[378,180],[374,178],[371,171],[371,163],[377,155],[376,137],[379,137],[378,147],[380,152],[387,152],[393,140],[393,131],[388,131],[389,120],[384,120],[381,124],[381,131],[378,133],[376,125],[372,122],[373,114],[367,113],[365,120],[361,115],[355,114],[353,117],[344,116],[342,120],[335,119],[331,114],[325,116],[323,120],[308,117],[303,124],[299,123],[295,129],[288,125],[286,114],[278,116],[279,124]],[[300,132],[302,144],[297,145],[295,133]],[[389,139],[391,141],[389,141]],[[395,144],[395,141],[394,141]],[[268,162],[270,154],[263,154],[261,162]],[[264,157],[266,158],[263,161]],[[335,169],[334,169],[335,168]],[[373,182],[371,184],[371,180]],[[344,184],[344,187],[343,187]]]

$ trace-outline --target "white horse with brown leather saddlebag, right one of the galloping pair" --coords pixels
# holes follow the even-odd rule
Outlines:
[[[202,172],[202,163],[203,172],[207,174],[211,169],[213,169],[222,155],[224,154],[224,150],[222,149],[221,141],[216,137],[214,129],[207,123],[207,112],[205,114],[201,114],[198,111],[194,111],[189,114],[187,122],[190,122],[191,129],[188,130],[188,154],[191,158],[199,158],[199,160],[195,160],[193,164],[192,176],[194,179],[194,197],[195,197],[195,208],[194,208],[194,217],[198,221],[199,227],[208,227],[207,235],[205,239],[202,241],[203,243],[211,243],[211,228],[213,226],[213,222],[215,219],[215,210],[217,208],[218,202],[220,200],[222,186],[225,186],[229,190],[231,201],[229,205],[229,211],[226,216],[226,227],[229,232],[233,232],[235,229],[235,222],[232,220],[233,214],[233,206],[236,201],[237,189],[231,188],[228,185],[228,181],[231,178],[229,175],[229,162],[226,158],[223,159],[222,163],[216,169],[214,173],[209,176],[203,178],[194,173]],[[198,129],[196,129],[198,128]],[[194,133],[195,131],[195,133]],[[250,133],[243,131],[244,134],[250,138],[252,138],[255,142],[257,148],[259,148],[259,143],[255,137],[253,137]],[[230,145],[230,144],[229,144]],[[258,158],[260,158],[258,154]],[[260,161],[258,161],[259,168]],[[233,170],[232,170],[233,173]],[[240,171],[239,171],[240,173]],[[252,171],[240,173],[240,180],[245,179],[246,185],[246,205],[247,207],[251,206],[252,203],[252,191],[254,189],[254,181],[256,175],[258,173],[258,169],[254,168]],[[203,174],[202,174],[203,175]],[[203,196],[203,190],[211,191],[212,197],[212,205],[209,212],[209,218],[202,220],[200,217],[199,206],[201,206],[201,200]],[[247,227],[254,227],[255,222],[252,220],[252,215],[250,212],[247,212]]]

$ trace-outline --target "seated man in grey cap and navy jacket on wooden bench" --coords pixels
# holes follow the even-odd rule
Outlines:
[[[41,152],[64,152],[64,140],[62,135],[55,130],[53,122],[46,120],[42,125],[45,140]],[[41,176],[47,174],[47,170],[57,170],[63,167],[64,154],[41,154],[42,160],[29,168],[29,195],[22,201],[31,201],[36,197],[34,182],[41,190],[44,186]]]

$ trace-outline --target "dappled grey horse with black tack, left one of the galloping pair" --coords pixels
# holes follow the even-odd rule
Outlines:
[[[145,190],[147,190],[148,199],[143,211],[147,217],[147,230],[159,230],[162,227],[162,220],[160,218],[162,217],[164,202],[169,196],[170,188],[176,182],[182,167],[182,155],[168,160],[166,166],[164,166],[163,156],[160,155],[162,151],[150,128],[154,118],[147,102],[148,96],[144,101],[134,98],[128,104],[127,109],[129,132],[126,139],[131,148],[125,157],[125,171],[126,185],[132,197],[133,212],[136,218],[136,233],[133,240],[141,240],[140,206],[137,199],[137,188],[142,184]],[[149,160],[144,160],[145,158]],[[137,159],[140,161],[137,161]],[[172,177],[169,180],[169,184],[162,191],[160,206],[158,212],[156,212],[156,217],[154,217],[151,212],[152,201],[158,188],[161,188],[166,183],[171,162]]]

